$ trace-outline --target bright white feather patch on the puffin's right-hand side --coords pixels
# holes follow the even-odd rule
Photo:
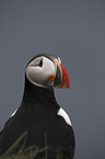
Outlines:
[[[61,109],[61,107],[59,109],[58,115],[62,116],[65,118],[65,121],[67,122],[67,124],[69,124],[70,126],[72,126],[71,121],[70,121],[68,114],[65,112],[63,109]]]

